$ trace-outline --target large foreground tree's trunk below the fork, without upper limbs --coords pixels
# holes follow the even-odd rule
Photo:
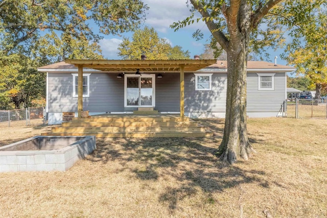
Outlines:
[[[227,98],[223,140],[218,148],[220,158],[229,163],[245,160],[253,149],[246,127],[246,76],[248,38],[229,43],[227,52]]]

